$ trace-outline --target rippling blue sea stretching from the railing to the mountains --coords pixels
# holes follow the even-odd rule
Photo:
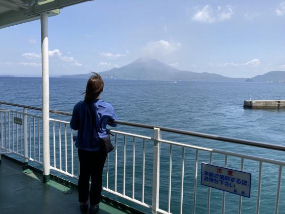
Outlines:
[[[74,105],[83,100],[87,80],[50,78],[50,109],[72,112]],[[105,80],[101,99],[111,103],[118,120],[144,123],[207,134],[222,135],[285,146],[284,109],[245,109],[244,100],[285,100],[285,83],[206,82],[206,81],[131,81]],[[0,77],[0,101],[29,106],[42,106],[41,78]],[[7,107],[4,105],[1,108]],[[51,114],[52,118],[70,120],[68,116]],[[114,130],[153,136],[150,129],[118,125]],[[76,132],[74,132],[76,134]],[[284,152],[248,147],[230,142],[209,140],[162,132],[162,138],[210,149],[236,152],[246,155],[285,161]],[[114,140],[114,139],[113,139]],[[113,141],[114,142],[114,141]],[[135,142],[135,192],[141,200],[142,189],[142,144]],[[146,145],[146,203],[152,199],[153,142]],[[133,138],[127,137],[126,189],[132,197]],[[118,135],[117,191],[122,193],[123,137]],[[76,149],[75,149],[76,151]],[[160,208],[167,210],[169,188],[169,145],[161,145],[160,162]],[[183,213],[193,211],[195,150],[185,149]],[[75,155],[76,156],[76,155]],[[206,213],[206,186],[200,184],[201,163],[209,163],[209,153],[199,152],[196,213]],[[108,186],[114,189],[114,152],[109,154]],[[225,166],[225,155],[213,154],[212,164]],[[77,161],[75,160],[75,165]],[[180,212],[182,149],[173,147],[171,212]],[[229,157],[228,167],[240,170],[241,159]],[[242,198],[242,213],[255,213],[257,201],[259,162],[245,160],[244,171],[251,173],[251,196]],[[76,167],[75,167],[76,168]],[[283,173],[284,174],[284,173]],[[106,166],[104,186],[106,186]],[[285,213],[285,178],[281,177],[279,213]],[[262,165],[260,213],[274,213],[278,166]],[[132,202],[104,193],[123,203],[141,208]],[[221,213],[223,191],[211,189],[210,213]],[[238,213],[239,196],[226,193],[225,213]]]

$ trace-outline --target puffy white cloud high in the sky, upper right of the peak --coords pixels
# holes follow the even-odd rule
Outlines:
[[[230,20],[233,16],[233,8],[227,6],[225,9],[221,6],[215,11],[211,6],[206,5],[202,9],[196,8],[196,13],[192,17],[192,21],[203,23],[215,23]]]

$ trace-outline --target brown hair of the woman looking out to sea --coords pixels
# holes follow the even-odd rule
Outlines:
[[[103,91],[104,82],[100,75],[95,72],[92,72],[93,75],[89,78],[86,84],[86,91],[84,101],[87,103],[93,102]]]

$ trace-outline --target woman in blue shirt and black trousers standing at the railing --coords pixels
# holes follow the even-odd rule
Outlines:
[[[78,193],[80,209],[88,209],[89,180],[91,176],[89,213],[99,210],[102,191],[102,172],[107,154],[102,151],[101,139],[108,136],[107,124],[116,120],[111,104],[100,100],[104,82],[100,75],[93,73],[87,82],[84,101],[77,103],[73,110],[70,127],[78,130],[76,147],[78,148],[80,175]]]

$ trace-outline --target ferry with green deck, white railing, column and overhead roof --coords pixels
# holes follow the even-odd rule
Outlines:
[[[7,0],[0,4],[0,28],[37,19],[41,20],[43,87],[41,108],[0,101],[1,213],[80,213],[76,203],[76,181],[79,176],[76,163],[78,160],[72,138],[74,132],[69,128],[68,120],[71,114],[49,109],[47,23],[49,16],[59,14],[59,9],[83,2],[85,1]],[[59,119],[54,115],[65,117],[66,120]],[[261,213],[260,206],[264,200],[261,196],[264,165],[278,168],[276,179],[273,181],[276,183],[276,188],[270,190],[274,195],[271,205],[274,207],[274,213],[278,213],[280,202],[282,205],[284,204],[284,201],[279,200],[284,161],[263,158],[262,155],[233,153],[227,149],[218,150],[215,149],[215,144],[198,147],[181,143],[175,137],[163,138],[162,132],[264,150],[284,152],[285,147],[283,146],[150,124],[115,122],[127,127],[152,130],[152,134],[141,135],[135,131],[125,131],[120,127],[110,130],[115,135],[112,139],[115,150],[106,161],[103,190],[104,194],[106,193],[108,196],[102,196],[99,213],[232,213],[234,211]],[[132,147],[131,154],[127,154],[127,144]],[[181,159],[178,160],[180,165],[178,178],[177,167],[176,165],[173,167],[174,161],[177,161],[173,160],[173,152],[177,148],[181,153]],[[141,160],[135,158],[137,149],[140,149],[142,153]],[[163,159],[167,161],[161,161],[161,154],[167,156],[167,159]],[[188,160],[187,155],[189,154],[192,154],[193,158],[193,162],[191,162],[193,170],[190,172],[191,187],[187,183],[189,172],[184,171],[190,165],[185,162]],[[244,163],[248,160],[258,165],[255,171],[251,172],[255,175],[251,181],[251,190],[255,192],[254,198],[249,200],[242,193],[234,192],[232,195],[226,194],[226,190],[217,190],[220,191],[222,197],[221,200],[215,200],[216,194],[218,194],[217,188],[201,185],[200,162],[211,165],[217,155],[223,157],[224,163],[220,166],[220,170],[227,169],[230,158],[238,160],[238,167],[235,166],[235,170],[244,171]],[[131,159],[127,157],[131,157]],[[146,167],[146,162],[151,162],[151,168]],[[136,171],[137,164],[142,166],[141,172]],[[176,173],[172,173],[173,171]],[[232,176],[233,172],[229,171],[228,176]],[[216,176],[216,174],[212,175]],[[174,177],[175,179],[173,179]],[[215,183],[215,177],[212,178],[212,183]],[[225,180],[225,177],[220,178],[218,183]],[[210,180],[210,176],[207,179]],[[167,183],[166,189],[160,188],[162,182]],[[185,183],[187,185],[184,185]],[[226,182],[224,183],[226,185]],[[174,185],[179,185],[179,194],[173,194]],[[191,188],[191,197],[189,195],[187,198],[185,197],[185,188]],[[235,197],[233,201],[226,200],[233,197]],[[212,204],[211,201],[215,201],[215,204]],[[226,202],[231,203],[231,207],[226,207]],[[247,204],[252,203],[254,206],[247,207]]]

